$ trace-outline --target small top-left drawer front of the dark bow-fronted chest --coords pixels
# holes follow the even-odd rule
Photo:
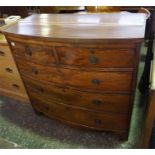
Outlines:
[[[11,47],[14,55],[19,55],[25,60],[43,65],[55,63],[52,46],[11,42]]]

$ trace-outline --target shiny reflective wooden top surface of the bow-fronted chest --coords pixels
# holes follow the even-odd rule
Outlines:
[[[11,26],[6,33],[66,39],[143,38],[146,14],[40,14]]]

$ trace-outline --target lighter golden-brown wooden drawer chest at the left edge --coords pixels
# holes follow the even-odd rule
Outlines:
[[[3,38],[2,34],[1,38]],[[0,40],[0,95],[24,103],[29,99],[5,37]]]

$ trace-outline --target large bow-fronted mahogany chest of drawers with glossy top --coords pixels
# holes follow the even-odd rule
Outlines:
[[[35,111],[127,138],[145,17],[43,14],[5,30]]]

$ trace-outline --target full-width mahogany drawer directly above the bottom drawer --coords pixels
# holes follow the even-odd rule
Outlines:
[[[46,85],[29,78],[25,78],[25,82],[30,94],[36,98],[44,96],[47,100],[83,107],[92,111],[124,114],[129,112],[129,95],[81,92],[52,84]]]

